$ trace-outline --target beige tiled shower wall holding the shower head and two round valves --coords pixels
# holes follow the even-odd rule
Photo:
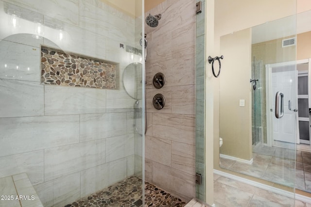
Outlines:
[[[145,24],[145,178],[187,200],[195,197],[195,7],[194,0],[165,0],[145,13],[162,15],[156,28]],[[152,84],[158,72],[166,78],[161,89]],[[162,110],[152,104],[158,93],[166,100]]]

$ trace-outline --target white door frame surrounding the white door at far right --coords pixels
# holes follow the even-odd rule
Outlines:
[[[268,146],[273,146],[274,145],[274,138],[273,138],[273,115],[274,113],[271,113],[270,111],[270,106],[271,106],[271,101],[270,100],[270,94],[272,92],[272,86],[271,86],[271,80],[272,80],[272,68],[274,67],[281,67],[281,66],[289,66],[289,65],[297,65],[297,64],[306,64],[306,63],[310,63],[311,59],[303,59],[303,60],[299,60],[299,61],[290,61],[290,62],[283,62],[283,63],[276,63],[276,64],[266,64],[265,68],[266,68],[266,116],[267,116],[267,145]],[[297,71],[297,70],[296,70]],[[310,64],[309,64],[309,71],[310,71]],[[296,72],[297,73],[297,72]],[[297,93],[297,79],[298,76],[296,74],[296,85],[295,85],[295,91],[296,91],[296,95]],[[309,80],[310,82],[310,77]],[[309,84],[308,82],[308,84]],[[309,107],[311,106],[310,103],[310,98],[309,98]],[[295,106],[298,107],[298,95],[295,98]],[[311,107],[310,107],[311,108]],[[296,112],[296,139],[295,139],[295,144],[299,143],[299,121],[298,121],[298,112]]]

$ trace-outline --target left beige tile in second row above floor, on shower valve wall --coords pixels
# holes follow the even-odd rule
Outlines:
[[[170,140],[145,136],[145,158],[171,166],[172,142]]]

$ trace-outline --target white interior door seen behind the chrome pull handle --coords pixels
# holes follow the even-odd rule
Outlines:
[[[297,83],[295,65],[271,67],[270,120],[272,121],[272,142],[296,142]],[[276,93],[283,93],[283,116],[276,118]],[[291,109],[289,109],[291,101]],[[279,110],[281,107],[279,107]],[[281,113],[281,111],[279,111]],[[272,118],[271,118],[272,116]],[[273,143],[272,143],[273,144]]]

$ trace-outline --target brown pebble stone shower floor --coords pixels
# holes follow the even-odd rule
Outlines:
[[[65,207],[142,207],[141,182],[129,177]],[[145,182],[145,207],[184,207],[186,202]]]

